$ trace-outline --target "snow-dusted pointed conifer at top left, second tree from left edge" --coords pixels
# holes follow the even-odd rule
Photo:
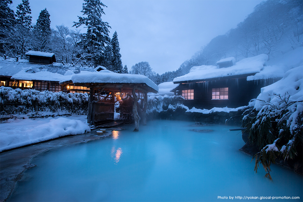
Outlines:
[[[32,28],[32,16],[31,9],[29,8],[28,0],[22,0],[22,3],[17,6],[17,11],[15,16],[17,17],[17,22],[25,27]]]

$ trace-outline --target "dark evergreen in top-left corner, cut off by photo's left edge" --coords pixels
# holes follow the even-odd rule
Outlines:
[[[0,27],[2,28],[8,28],[15,25],[14,11],[8,6],[8,4],[11,5],[12,3],[12,0],[0,1]]]

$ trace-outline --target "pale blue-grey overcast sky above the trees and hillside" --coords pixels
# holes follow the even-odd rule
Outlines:
[[[12,9],[21,0],[13,0]],[[64,24],[72,29],[82,16],[83,0],[29,0],[32,23],[46,8],[51,27]],[[156,73],[174,71],[212,38],[236,28],[261,1],[102,1],[104,22],[117,31],[122,64],[128,70],[141,61],[149,62]],[[82,32],[86,32],[82,27]]]

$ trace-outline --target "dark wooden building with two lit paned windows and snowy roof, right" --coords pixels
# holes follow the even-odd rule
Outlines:
[[[262,87],[283,76],[283,71],[275,69],[271,74],[268,71],[268,75],[263,74],[267,59],[268,56],[262,54],[245,58],[229,67],[193,67],[187,75],[174,79],[174,84],[179,85],[171,91],[184,97],[184,104],[188,107],[211,109],[246,106],[251,99],[257,98]],[[232,63],[230,58],[223,61],[224,65]]]

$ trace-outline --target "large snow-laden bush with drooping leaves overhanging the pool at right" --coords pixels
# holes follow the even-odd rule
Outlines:
[[[247,111],[242,127],[250,144],[256,145],[255,171],[261,162],[266,177],[270,177],[270,163],[277,158],[302,160],[303,128],[303,67],[287,71],[274,84],[261,88],[255,107]]]

